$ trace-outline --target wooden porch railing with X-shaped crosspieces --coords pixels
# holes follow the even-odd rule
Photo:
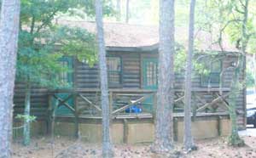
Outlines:
[[[221,93],[218,88],[196,88],[193,89],[193,114],[218,112],[220,106],[228,110],[229,104],[226,100],[230,95],[229,88],[223,88]],[[58,93],[67,94],[65,98]],[[211,100],[205,99],[207,93]],[[209,97],[208,97],[209,98]],[[102,108],[100,105],[100,89],[60,89],[49,92],[49,110],[54,113],[60,106],[67,107],[70,114],[76,116],[100,117]],[[53,104],[52,99],[55,100]],[[68,100],[73,99],[73,104]],[[146,89],[110,89],[109,99],[111,114],[116,116],[154,116],[156,105],[156,91]],[[174,112],[183,112],[184,93],[182,89],[175,90]],[[55,108],[54,108],[55,107]],[[132,110],[132,108],[137,109]],[[223,112],[223,111],[222,111]],[[69,114],[69,115],[70,115]],[[67,115],[67,114],[66,114]],[[147,117],[148,117],[147,116]]]

